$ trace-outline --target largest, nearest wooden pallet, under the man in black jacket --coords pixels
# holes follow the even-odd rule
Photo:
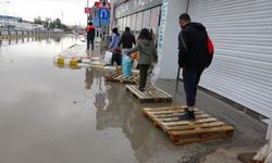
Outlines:
[[[208,141],[232,137],[234,127],[218,121],[198,109],[196,121],[181,121],[186,106],[145,108],[144,115],[163,129],[174,145]]]

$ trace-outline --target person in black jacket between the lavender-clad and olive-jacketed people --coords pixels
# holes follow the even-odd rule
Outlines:
[[[131,33],[131,28],[126,27],[119,42],[119,46],[122,46],[123,58],[127,55],[127,51],[133,48],[133,45],[136,45],[135,36]]]

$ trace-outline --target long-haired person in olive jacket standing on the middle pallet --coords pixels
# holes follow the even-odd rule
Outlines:
[[[139,90],[145,91],[147,72],[151,63],[158,61],[157,49],[147,28],[140,30],[136,46],[127,53],[132,54],[136,51],[139,51]]]

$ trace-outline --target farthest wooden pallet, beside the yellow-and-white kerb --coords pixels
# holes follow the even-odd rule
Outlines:
[[[133,74],[131,77],[125,77],[122,72],[110,73],[104,76],[106,82],[121,83],[121,84],[129,84],[137,85],[139,80],[138,74]]]

